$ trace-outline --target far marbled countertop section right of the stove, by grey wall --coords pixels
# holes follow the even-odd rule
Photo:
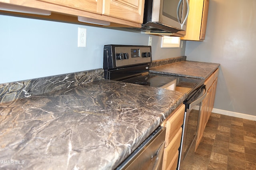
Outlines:
[[[186,60],[150,68],[150,72],[173,76],[207,79],[219,66],[220,64],[217,63]]]

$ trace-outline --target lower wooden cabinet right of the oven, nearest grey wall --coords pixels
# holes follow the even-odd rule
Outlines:
[[[202,101],[201,115],[198,126],[198,136],[196,139],[196,149],[202,140],[204,129],[212,113],[217,87],[218,71],[219,69],[217,68],[217,70],[212,73],[212,75],[204,82],[207,88],[207,95]]]

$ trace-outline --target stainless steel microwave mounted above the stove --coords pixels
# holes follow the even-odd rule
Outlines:
[[[188,0],[146,0],[139,29],[151,34],[184,36],[188,12]]]

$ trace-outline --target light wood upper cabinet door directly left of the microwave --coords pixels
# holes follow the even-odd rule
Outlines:
[[[144,0],[106,0],[103,14],[142,23],[143,12]]]

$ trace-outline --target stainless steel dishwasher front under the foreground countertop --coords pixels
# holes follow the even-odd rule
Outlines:
[[[162,170],[165,132],[159,126],[116,170]]]

